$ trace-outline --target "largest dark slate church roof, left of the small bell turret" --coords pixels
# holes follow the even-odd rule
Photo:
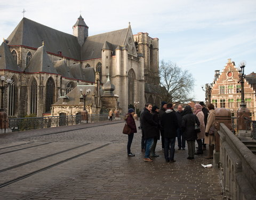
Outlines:
[[[81,59],[81,47],[75,36],[27,18],[20,21],[7,40],[9,41],[8,45],[24,45],[34,48],[42,46],[42,41],[44,41],[48,52],[58,54],[58,51],[61,51],[65,57]]]

